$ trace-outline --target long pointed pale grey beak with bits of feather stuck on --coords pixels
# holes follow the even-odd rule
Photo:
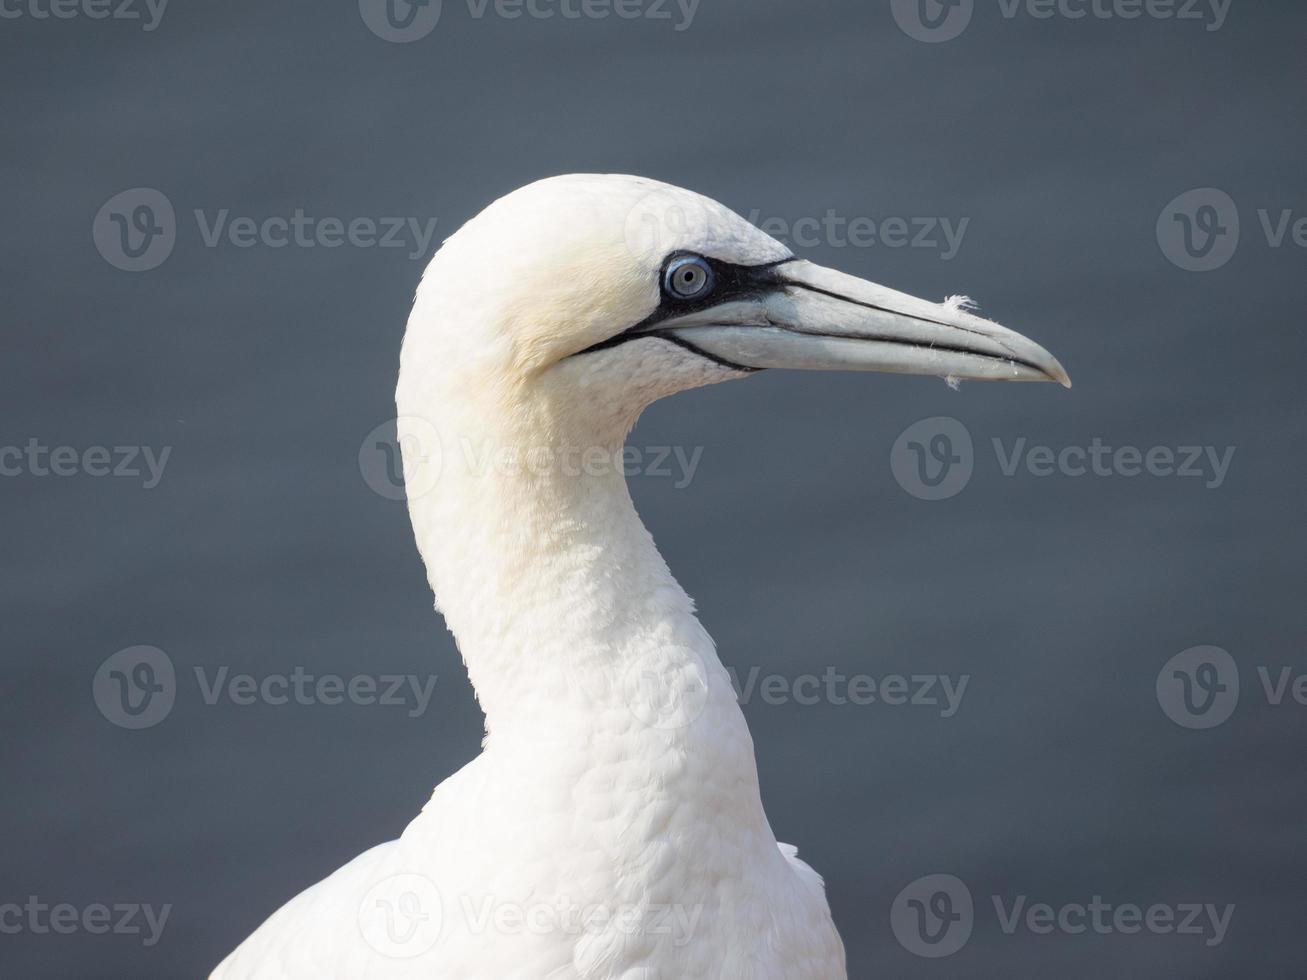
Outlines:
[[[657,324],[716,361],[746,368],[889,371],[991,382],[1070,378],[1033,340],[962,302],[931,303],[793,260],[767,272],[759,293]]]

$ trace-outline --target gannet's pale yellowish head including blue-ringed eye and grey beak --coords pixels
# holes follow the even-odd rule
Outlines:
[[[799,259],[690,191],[575,174],[502,197],[444,243],[400,391],[629,426],[659,397],[770,368],[1070,385],[1044,348],[965,302]]]

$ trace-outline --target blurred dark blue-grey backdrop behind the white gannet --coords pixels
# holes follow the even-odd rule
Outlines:
[[[950,257],[893,223],[874,243],[805,231],[818,240],[800,251],[970,294],[1076,382],[765,374],[659,404],[633,436],[702,447],[689,486],[643,473],[633,491],[742,681],[754,666],[789,685],[829,668],[970,677],[950,717],[757,690],[745,706],[772,825],[825,874],[851,976],[1304,975],[1307,707],[1291,686],[1272,703],[1257,669],[1307,670],[1293,231],[1307,12],[1234,0],[1218,21],[1204,0],[1205,20],[1127,18],[1100,0],[1114,16],[1044,18],[976,0],[958,37],[928,43],[912,4],[884,1],[702,0],[687,21],[676,4],[544,20],[447,0],[430,33],[395,43],[363,7],[174,0],[145,30],[142,3],[129,21],[10,0],[0,18],[0,444],[17,451],[0,457],[0,906],[171,906],[153,945],[43,932],[10,908],[0,973],[205,976],[478,751],[404,506],[359,464],[393,416],[427,255],[410,233],[397,248],[210,247],[201,225],[435,218],[438,243],[536,178],[621,171],[774,227],[967,220]],[[132,188],[176,216],[175,247],[145,272],[106,238],[154,226],[135,223],[135,199],[97,225]],[[1221,197],[1168,214],[1193,188],[1234,214]],[[1286,209],[1277,247],[1264,225]],[[1188,259],[1171,234],[1185,221]],[[901,433],[935,416],[974,439],[970,482],[945,500],[891,468]],[[1006,476],[993,439],[1235,453],[1219,486]],[[42,476],[31,440],[82,463]],[[171,447],[156,486],[94,476],[86,449],[119,446]],[[95,678],[141,644],[167,655],[176,691],[132,730]],[[1157,685],[1202,644],[1229,651],[1239,700],[1191,730]],[[414,717],[208,704],[196,668],[438,681]],[[931,959],[895,938],[890,909],[936,873],[966,883],[975,923]],[[1008,933],[995,895],[1235,908],[1209,945]]]

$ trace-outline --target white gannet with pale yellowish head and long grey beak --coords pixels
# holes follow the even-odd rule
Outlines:
[[[482,754],[399,840],[276,912],[213,980],[842,980],[822,879],[627,494],[657,399],[763,368],[1053,380],[1042,346],[823,269],[724,206],[571,175],[431,260],[396,401],[427,578]]]

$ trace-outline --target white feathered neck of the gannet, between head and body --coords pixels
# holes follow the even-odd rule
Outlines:
[[[401,434],[404,417],[439,434],[439,480],[409,510],[486,713],[486,745],[601,753],[621,741],[623,753],[711,755],[742,789],[737,805],[762,819],[729,676],[620,466],[627,431],[660,392],[622,400],[592,385],[578,397],[586,387],[561,371],[525,400],[401,375]]]

